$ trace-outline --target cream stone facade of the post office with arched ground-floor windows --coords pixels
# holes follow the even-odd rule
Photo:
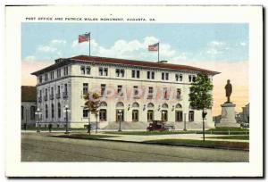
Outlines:
[[[154,66],[152,62],[144,62],[146,66],[141,66],[135,65],[138,61],[126,61],[130,65],[118,63],[117,59],[113,62],[98,62],[96,57],[87,59],[59,59],[54,65],[32,73],[38,77],[41,126],[52,123],[54,127],[63,127],[65,105],[71,110],[68,114],[71,128],[82,128],[88,120],[96,122],[94,115],[83,111],[84,94],[91,92],[102,95],[97,117],[99,128],[113,129],[111,126],[117,126],[119,120],[128,123],[130,129],[131,125],[135,129],[147,128],[150,120],[164,120],[179,128],[183,128],[186,120],[188,127],[202,127],[201,111],[189,108],[188,92],[197,72],[203,70],[165,68],[171,67],[169,63]],[[208,73],[210,79],[217,74]],[[206,126],[214,127],[211,110],[207,112]]]

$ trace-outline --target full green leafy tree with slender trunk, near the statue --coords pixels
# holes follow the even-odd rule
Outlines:
[[[197,79],[191,84],[189,92],[189,102],[191,108],[202,110],[203,119],[203,141],[205,141],[205,109],[211,109],[213,106],[211,80],[205,73],[198,73]]]

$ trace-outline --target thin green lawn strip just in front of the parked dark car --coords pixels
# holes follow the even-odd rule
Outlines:
[[[197,131],[105,131],[105,134],[114,135],[131,135],[131,136],[157,136],[157,135],[172,135],[172,134],[190,134]]]

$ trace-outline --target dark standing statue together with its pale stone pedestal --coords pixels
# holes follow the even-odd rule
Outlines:
[[[235,119],[235,106],[236,104],[230,102],[230,95],[232,92],[232,87],[230,84],[230,79],[227,80],[227,84],[225,86],[225,93],[227,97],[227,101],[222,103],[222,118],[219,123],[216,123],[216,128],[240,128],[239,123]]]

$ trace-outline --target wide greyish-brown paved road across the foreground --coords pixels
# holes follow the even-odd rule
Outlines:
[[[248,152],[21,133],[21,161],[248,161]]]

